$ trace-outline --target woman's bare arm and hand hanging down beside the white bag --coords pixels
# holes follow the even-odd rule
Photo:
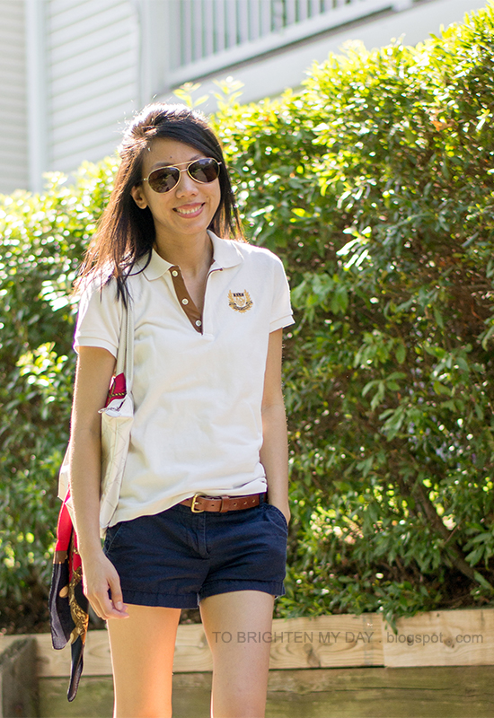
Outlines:
[[[70,483],[84,594],[101,618],[128,617],[119,574],[100,538],[101,414],[115,368],[106,349],[79,346],[71,421]],[[111,600],[109,592],[111,591]]]

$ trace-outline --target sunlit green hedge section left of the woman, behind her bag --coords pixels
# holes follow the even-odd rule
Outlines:
[[[71,286],[115,160],[54,174],[46,195],[0,198],[0,626],[48,618],[75,355]]]

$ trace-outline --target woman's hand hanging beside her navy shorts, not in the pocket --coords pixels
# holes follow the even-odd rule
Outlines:
[[[128,618],[119,574],[102,551],[83,561],[83,590],[94,613],[100,618]]]

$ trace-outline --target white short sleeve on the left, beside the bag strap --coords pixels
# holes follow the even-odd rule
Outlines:
[[[75,351],[79,346],[98,346],[117,356],[121,316],[122,306],[117,300],[115,283],[101,286],[99,281],[93,281],[79,302]]]

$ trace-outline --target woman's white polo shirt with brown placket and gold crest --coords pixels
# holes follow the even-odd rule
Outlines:
[[[135,416],[111,525],[196,493],[266,491],[260,403],[269,333],[294,321],[287,277],[269,250],[209,235],[214,252],[202,316],[180,267],[155,251],[128,278]],[[81,298],[75,348],[117,355],[121,311],[115,283],[93,283]]]

